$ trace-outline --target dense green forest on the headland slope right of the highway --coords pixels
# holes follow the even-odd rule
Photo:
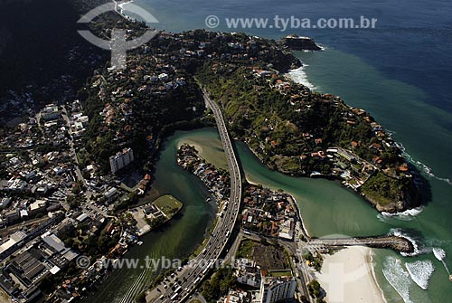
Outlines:
[[[298,175],[312,170],[328,173],[331,167],[327,163],[308,159],[300,164],[298,156],[325,147],[349,147],[353,140],[362,142],[357,155],[372,160],[367,147],[377,139],[369,123],[357,120],[356,125],[347,127],[346,106],[342,101],[334,102],[330,95],[304,90],[295,84],[293,90],[282,94],[269,85],[275,79],[252,80],[249,67],[221,66],[214,62],[205,64],[198,77],[221,103],[234,134],[249,140],[250,147],[263,156],[268,166],[278,166]],[[298,90],[306,92],[306,96],[300,103],[291,105],[291,95]],[[322,142],[306,138],[303,135],[306,133],[321,138]],[[266,142],[265,146],[260,142]]]

